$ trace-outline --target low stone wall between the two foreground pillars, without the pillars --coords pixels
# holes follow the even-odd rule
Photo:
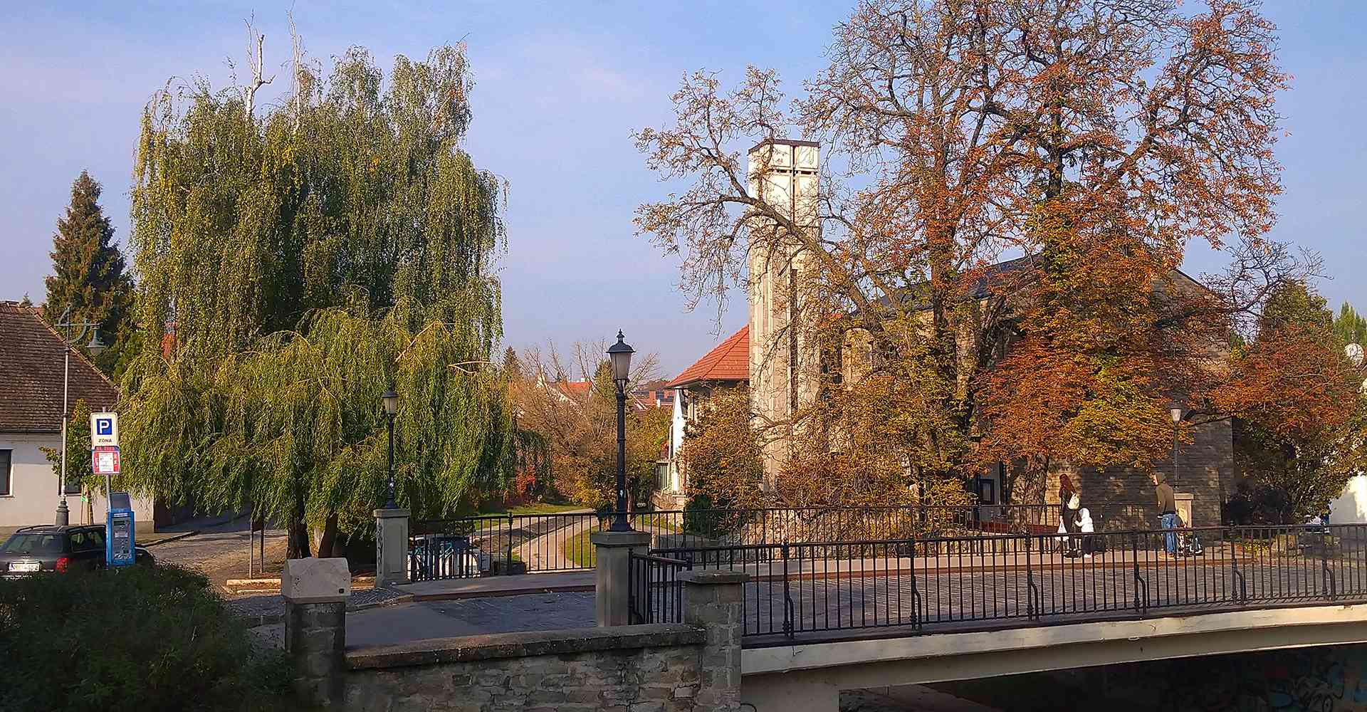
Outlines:
[[[417,641],[347,652],[346,709],[692,712],[704,630],[618,626]],[[737,649],[737,656],[740,651]],[[738,682],[738,681],[737,681]]]

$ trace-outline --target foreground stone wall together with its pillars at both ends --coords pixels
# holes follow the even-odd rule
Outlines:
[[[735,712],[746,574],[686,571],[681,623],[343,649],[344,603],[287,599],[298,692],[375,712]]]

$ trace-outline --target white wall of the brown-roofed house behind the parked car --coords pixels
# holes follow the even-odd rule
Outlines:
[[[0,450],[11,450],[11,478],[10,496],[0,496],[0,528],[49,525],[56,519],[57,512],[57,473],[48,463],[48,456],[41,447],[59,447],[62,436],[30,435],[30,433],[0,433]],[[68,451],[67,466],[71,458],[89,458],[89,451]],[[67,496],[67,508],[71,510],[71,523],[85,522],[85,504],[81,495]],[[105,497],[101,493],[94,496],[94,521],[104,522]],[[152,526],[152,500],[145,497],[133,499],[134,519],[138,529]]]

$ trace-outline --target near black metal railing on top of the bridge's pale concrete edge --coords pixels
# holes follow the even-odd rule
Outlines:
[[[652,555],[749,573],[744,634],[752,637],[1367,600],[1367,525],[737,544]]]

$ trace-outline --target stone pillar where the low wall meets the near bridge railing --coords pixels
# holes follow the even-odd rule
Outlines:
[[[684,622],[707,630],[699,667],[697,709],[735,711],[741,707],[742,596],[750,575],[744,571],[681,571]]]

